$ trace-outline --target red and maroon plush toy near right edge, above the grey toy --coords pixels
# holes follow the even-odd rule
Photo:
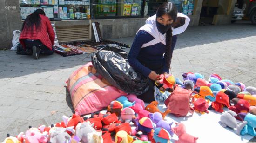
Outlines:
[[[248,101],[239,98],[234,98],[232,101],[234,105],[230,106],[229,110],[236,112],[236,114],[241,112],[248,113],[250,111],[250,104]]]

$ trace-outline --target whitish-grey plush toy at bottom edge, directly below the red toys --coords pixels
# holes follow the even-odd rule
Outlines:
[[[94,124],[90,124],[90,122],[78,123],[75,128],[75,135],[84,143],[103,143],[102,133],[97,132],[93,126]]]

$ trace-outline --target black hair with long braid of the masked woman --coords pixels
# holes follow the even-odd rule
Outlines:
[[[168,3],[163,3],[160,7],[158,7],[156,11],[156,18],[161,17],[162,15],[167,14],[170,16],[175,22],[177,20],[177,8],[174,3],[168,2]],[[167,64],[167,68],[170,68],[171,64],[171,59],[172,59],[172,53],[173,50],[172,48],[172,28],[170,28],[166,32],[166,50],[164,54],[164,60]]]

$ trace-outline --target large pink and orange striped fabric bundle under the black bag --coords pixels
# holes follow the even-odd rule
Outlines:
[[[76,115],[85,115],[102,110],[111,101],[126,95],[125,92],[111,86],[94,69],[91,62],[74,71],[67,80]]]

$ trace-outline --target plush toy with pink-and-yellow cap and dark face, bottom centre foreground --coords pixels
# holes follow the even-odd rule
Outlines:
[[[148,141],[148,134],[153,129],[153,122],[148,117],[143,117],[137,123],[136,129],[132,129],[132,135],[135,136],[138,131],[141,131],[143,135],[141,135],[142,141]]]

